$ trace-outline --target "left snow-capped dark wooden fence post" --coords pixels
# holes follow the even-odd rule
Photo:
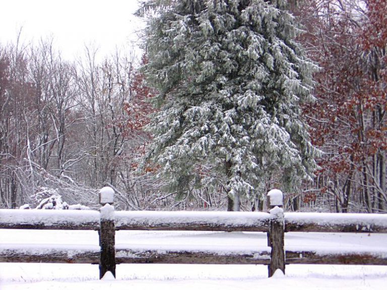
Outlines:
[[[99,191],[100,228],[99,246],[101,255],[99,260],[99,278],[110,271],[115,278],[115,226],[114,226],[114,190],[111,187],[103,187]]]

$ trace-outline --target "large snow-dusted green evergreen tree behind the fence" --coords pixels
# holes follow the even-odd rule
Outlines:
[[[300,29],[286,8],[285,0],[144,3],[144,69],[160,108],[148,160],[170,190],[223,184],[230,205],[263,197],[273,174],[283,190],[312,176],[318,151],[300,104],[313,101],[316,66],[294,40]]]

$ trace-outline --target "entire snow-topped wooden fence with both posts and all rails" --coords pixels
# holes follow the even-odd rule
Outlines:
[[[350,213],[284,213],[283,195],[271,190],[270,212],[114,211],[113,190],[100,191],[96,210],[0,210],[0,229],[94,230],[100,246],[0,245],[0,262],[99,264],[100,277],[115,276],[118,263],[267,264],[269,276],[286,264],[387,265],[387,249],[348,251],[284,246],[284,232],[387,233],[387,215]],[[268,247],[233,249],[213,247],[115,245],[117,230],[266,232]]]

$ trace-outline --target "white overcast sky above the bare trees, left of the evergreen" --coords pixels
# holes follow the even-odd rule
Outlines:
[[[54,47],[71,59],[95,44],[99,54],[138,41],[138,0],[0,0],[0,44],[53,37]]]

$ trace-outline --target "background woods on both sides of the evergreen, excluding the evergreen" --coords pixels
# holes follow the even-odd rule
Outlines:
[[[316,102],[303,107],[312,143],[324,154],[313,182],[285,193],[287,210],[385,212],[387,3],[299,0],[298,41],[318,63]],[[227,194],[192,188],[164,192],[159,167],[138,170],[154,112],[141,61],[130,51],[102,61],[87,47],[63,60],[51,41],[0,44],[0,208],[37,206],[50,196],[97,206],[101,187],[119,209],[226,209]],[[276,172],[263,185],[281,188]],[[262,209],[242,197],[242,210]]]

